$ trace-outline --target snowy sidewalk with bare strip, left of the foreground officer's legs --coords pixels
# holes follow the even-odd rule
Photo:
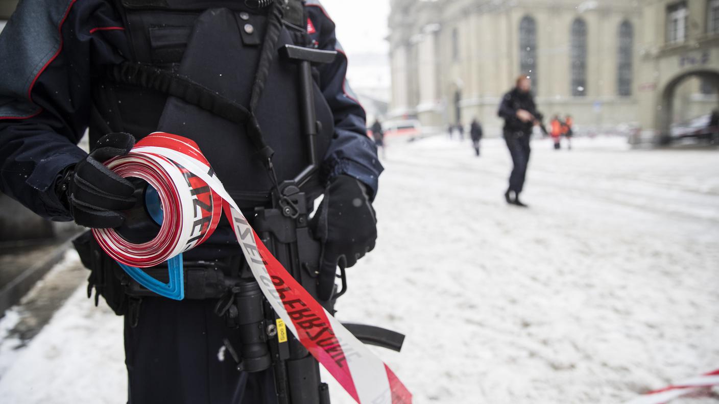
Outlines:
[[[87,275],[77,253],[67,252],[23,303],[0,321],[0,401],[126,402],[122,318],[104,302],[95,307],[87,298]],[[48,291],[54,295],[46,295]],[[42,311],[52,316],[46,326],[42,322],[49,318],[30,313],[28,305],[36,305],[37,300],[52,308]],[[23,332],[34,334],[40,329],[28,343],[29,334]]]

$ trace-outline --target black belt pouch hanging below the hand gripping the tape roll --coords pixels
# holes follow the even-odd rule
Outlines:
[[[73,240],[75,249],[80,255],[83,265],[90,270],[88,277],[88,298],[95,289],[95,306],[99,303],[99,296],[107,302],[112,311],[118,316],[127,314],[129,297],[124,291],[123,283],[129,277],[113,259],[107,256],[95,241],[91,231],[86,231]]]

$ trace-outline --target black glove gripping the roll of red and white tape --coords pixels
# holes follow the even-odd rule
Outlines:
[[[112,157],[127,155],[133,146],[131,134],[106,134],[85,160],[65,169],[55,190],[60,201],[66,203],[75,223],[93,229],[122,224],[125,218],[119,211],[134,206],[134,186],[102,163]]]

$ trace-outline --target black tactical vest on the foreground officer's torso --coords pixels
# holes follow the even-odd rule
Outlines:
[[[186,77],[221,98],[249,105],[260,60],[271,1],[255,0],[116,0],[132,55],[131,63]],[[284,6],[284,21],[275,46],[308,46],[307,17],[300,0]],[[274,151],[280,182],[308,165],[307,141],[301,133],[298,69],[275,52],[256,116],[265,142]],[[334,132],[332,114],[314,85],[321,130],[317,155],[324,156]],[[93,144],[106,132],[129,132],[137,139],[162,131],[193,139],[214,167],[226,190],[242,208],[265,205],[272,183],[247,128],[152,86],[101,78],[93,83],[95,110],[90,127]],[[305,186],[319,195],[319,178]]]

